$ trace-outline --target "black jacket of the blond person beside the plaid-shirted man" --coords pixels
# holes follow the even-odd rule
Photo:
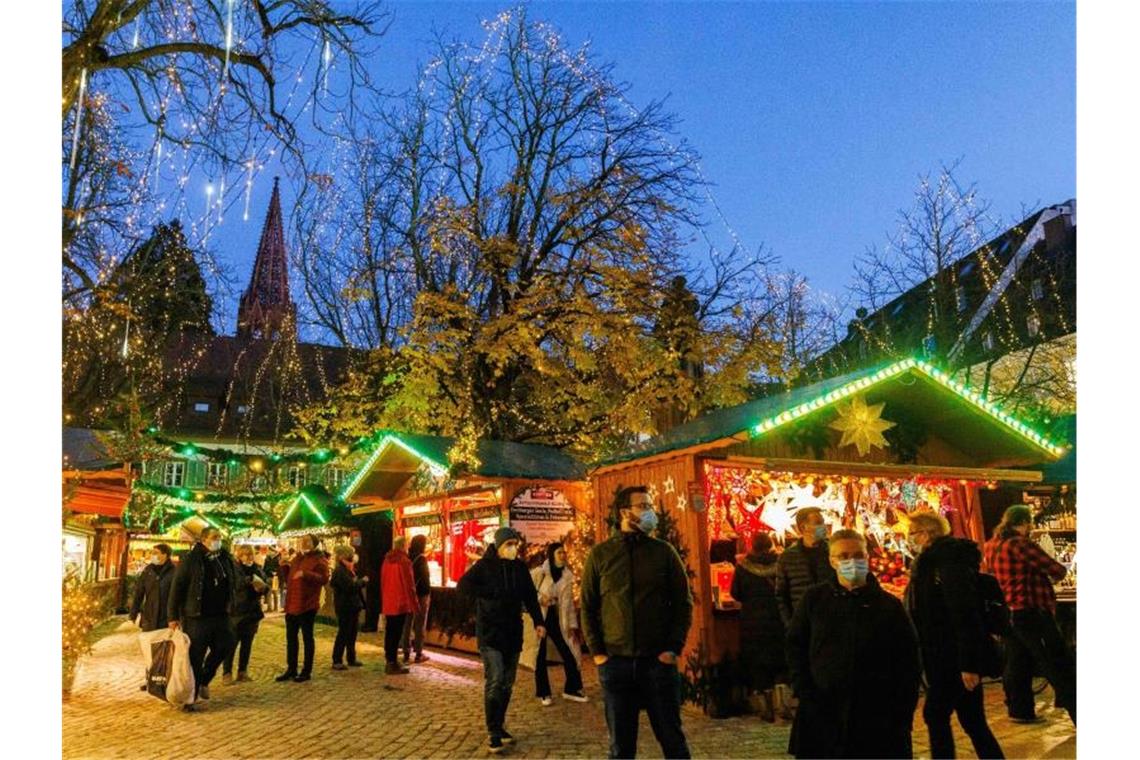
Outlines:
[[[982,551],[969,539],[943,536],[919,554],[906,587],[906,610],[918,630],[931,681],[993,670],[996,654],[978,604]]]

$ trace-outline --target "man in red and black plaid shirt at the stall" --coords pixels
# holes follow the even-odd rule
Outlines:
[[[1021,504],[1005,510],[994,537],[986,544],[986,569],[993,573],[1012,613],[1013,632],[1005,637],[1002,685],[1009,717],[1015,722],[1037,722],[1033,703],[1034,670],[1053,687],[1057,705],[1076,724],[1076,662],[1053,616],[1053,583],[1068,569],[1029,540],[1033,514]]]

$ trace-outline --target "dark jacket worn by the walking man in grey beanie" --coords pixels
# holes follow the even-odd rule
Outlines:
[[[479,646],[499,652],[522,652],[522,610],[535,627],[543,624],[538,593],[522,559],[503,559],[492,544],[459,579],[459,593],[475,598],[475,637]]]

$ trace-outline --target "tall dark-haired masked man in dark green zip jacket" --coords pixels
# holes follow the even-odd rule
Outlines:
[[[681,727],[677,655],[693,618],[677,551],[652,538],[657,513],[645,487],[618,492],[621,533],[595,546],[581,580],[583,629],[605,695],[610,757],[637,753],[637,719],[649,713],[666,758],[689,758]]]

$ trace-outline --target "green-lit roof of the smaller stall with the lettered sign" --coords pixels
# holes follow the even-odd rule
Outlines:
[[[448,453],[455,439],[393,431],[382,431],[381,435],[368,458],[348,479],[340,493],[342,499],[357,493],[391,499],[424,466],[435,476],[447,475]],[[482,440],[475,456],[479,466],[461,476],[586,480],[586,468],[580,461],[548,446]]]

